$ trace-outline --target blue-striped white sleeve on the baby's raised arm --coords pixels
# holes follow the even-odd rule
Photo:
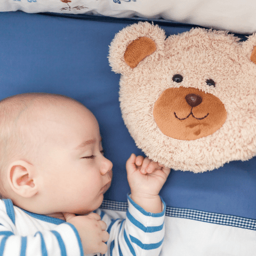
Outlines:
[[[161,213],[150,213],[135,204],[128,196],[126,219],[109,220],[101,214],[108,225],[110,238],[106,256],[157,256],[164,239],[165,203]]]

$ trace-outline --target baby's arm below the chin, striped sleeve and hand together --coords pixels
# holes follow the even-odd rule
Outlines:
[[[57,226],[49,230],[47,225],[37,226],[36,223],[34,226],[33,217],[30,220],[27,213],[20,211],[17,218],[8,209],[12,210],[12,207],[6,207],[1,200],[0,256],[83,256],[107,251],[106,223],[96,213],[77,217],[66,214],[69,223],[56,221]]]

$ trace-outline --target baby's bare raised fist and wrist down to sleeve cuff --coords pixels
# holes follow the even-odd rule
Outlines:
[[[147,212],[162,212],[162,201],[158,194],[170,169],[147,157],[132,154],[126,162],[126,170],[133,201]]]

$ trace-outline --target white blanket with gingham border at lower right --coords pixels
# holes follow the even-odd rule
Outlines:
[[[113,218],[124,218],[125,203],[103,201]],[[124,205],[125,204],[125,205]],[[118,211],[118,209],[122,209]],[[115,209],[106,210],[106,209]],[[255,256],[256,220],[167,207],[159,256]]]

